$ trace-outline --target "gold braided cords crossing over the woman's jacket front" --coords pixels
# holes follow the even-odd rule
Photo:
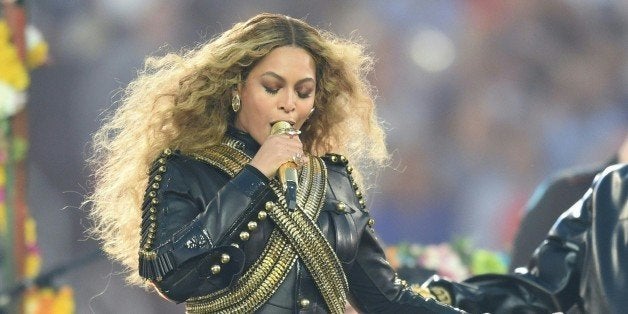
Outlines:
[[[206,150],[203,154],[196,154],[194,157],[221,169],[233,177],[240,172],[245,164],[250,161],[250,157],[238,148],[240,147],[234,145],[234,141],[223,141],[222,145],[213,146]],[[311,157],[310,162],[302,168],[302,176],[299,182],[300,188],[297,192],[297,203],[299,208],[301,208],[304,212],[307,212],[307,215],[301,210],[295,211],[300,212],[302,215],[299,220],[302,220],[304,219],[303,217],[305,217],[305,219],[310,221],[310,224],[308,225],[307,222],[304,223],[301,221],[298,224],[301,227],[297,227],[298,229],[295,229],[295,223],[291,223],[292,226],[288,227],[288,229],[291,230],[290,234],[298,234],[301,232],[299,230],[304,231],[304,234],[299,235],[300,249],[295,250],[294,244],[290,243],[286,235],[279,231],[279,229],[285,229],[280,226],[279,229],[275,229],[271,233],[270,240],[257,261],[242,277],[238,279],[233,287],[225,288],[205,296],[189,299],[186,302],[187,312],[254,312],[275,293],[280,284],[285,280],[285,277],[294,265],[297,258],[297,252],[299,252],[299,255],[301,255],[302,252],[303,254],[307,254],[309,256],[307,258],[301,256],[304,261],[317,259],[320,257],[320,252],[325,252],[324,249],[321,249],[321,243],[318,243],[316,248],[303,248],[309,245],[313,237],[319,237],[319,239],[317,239],[319,241],[317,242],[322,240],[327,244],[328,249],[326,255],[329,256],[324,258],[324,260],[320,263],[315,263],[313,268],[317,270],[317,274],[313,276],[318,278],[315,279],[315,282],[319,285],[319,290],[322,291],[322,294],[328,303],[328,307],[333,309],[332,312],[334,313],[342,313],[344,310],[346,293],[339,293],[339,289],[336,287],[343,286],[340,290],[347,291],[346,288],[344,288],[346,287],[346,279],[343,273],[340,281],[335,280],[338,278],[336,275],[333,276],[334,280],[325,281],[326,277],[323,276],[323,274],[325,274],[328,269],[331,269],[331,266],[333,266],[333,263],[329,262],[330,257],[331,259],[335,259],[338,265],[340,265],[340,262],[337,260],[333,250],[331,250],[331,246],[329,246],[325,237],[314,223],[322,208],[325,196],[326,180],[326,169],[324,168],[324,163],[320,158]],[[275,210],[275,213],[279,211],[287,213],[285,197],[279,188],[280,183],[273,180],[271,182],[271,187],[273,187],[273,190],[277,194],[283,207],[282,210]],[[279,190],[277,190],[277,188],[279,188]],[[277,206],[272,206],[272,208],[275,207]],[[273,214],[269,214],[269,216],[273,218]],[[278,216],[282,216],[282,214],[279,214]],[[281,220],[284,221],[285,217]],[[275,223],[279,225],[277,221],[275,221]],[[312,230],[312,227],[315,230]],[[318,231],[318,234],[316,234],[316,231]],[[311,264],[313,263],[305,262],[305,264],[309,269],[309,267],[312,267]],[[342,271],[342,268],[340,268],[340,271]],[[310,270],[310,272],[313,273],[312,270]],[[323,278],[321,279],[321,277]],[[338,304],[342,304],[342,310],[340,311],[336,310],[339,309]]]

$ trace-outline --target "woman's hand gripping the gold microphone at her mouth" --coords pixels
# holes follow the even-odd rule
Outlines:
[[[257,168],[266,177],[272,178],[282,164],[301,159],[305,154],[298,136],[289,134],[270,135],[251,160],[251,166]],[[300,163],[297,162],[300,166]]]

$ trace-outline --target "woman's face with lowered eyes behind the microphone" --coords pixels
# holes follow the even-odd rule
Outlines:
[[[238,90],[242,107],[235,127],[263,144],[277,121],[301,128],[314,107],[316,65],[303,48],[278,47],[253,67]]]

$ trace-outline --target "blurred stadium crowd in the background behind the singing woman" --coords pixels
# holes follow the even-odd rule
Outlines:
[[[534,187],[609,158],[628,133],[628,4],[594,0],[28,3],[50,45],[32,74],[30,198],[44,269],[89,255],[90,134],[147,54],[212,38],[261,12],[362,38],[389,130],[368,202],[388,244],[457,237],[507,251]],[[100,258],[59,278],[77,312],[168,313]],[[177,309],[182,312],[182,308]]]

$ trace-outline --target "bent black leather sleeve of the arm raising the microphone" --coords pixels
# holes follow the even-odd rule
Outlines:
[[[151,170],[144,198],[140,275],[176,302],[229,286],[244,267],[233,233],[269,191],[252,166],[229,178],[167,151]]]

